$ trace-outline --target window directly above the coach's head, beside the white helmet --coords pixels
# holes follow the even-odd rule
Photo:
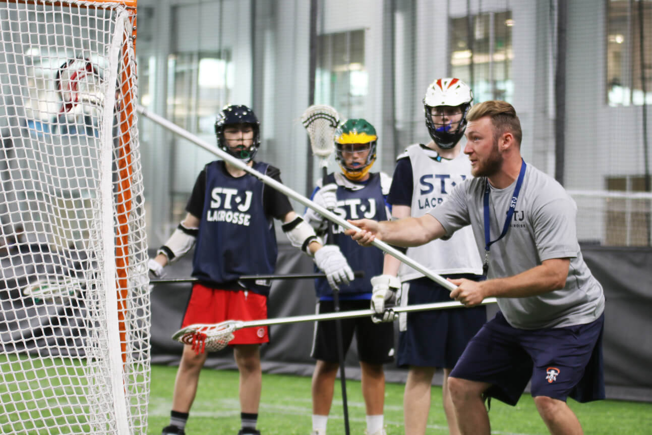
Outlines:
[[[451,76],[471,86],[476,102],[512,99],[512,25],[510,10],[451,19]]]

